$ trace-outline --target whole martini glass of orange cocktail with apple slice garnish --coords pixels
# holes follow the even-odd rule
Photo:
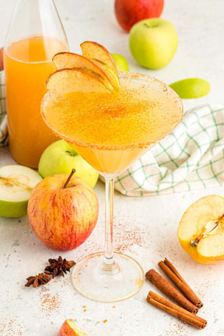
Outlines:
[[[46,81],[49,92],[41,113],[52,132],[105,177],[105,252],[79,261],[72,282],[86,297],[114,302],[133,296],[144,283],[136,260],[113,253],[114,178],[172,132],[183,106],[176,92],[154,78],[118,74],[100,44],[86,41],[81,49],[82,56],[65,52],[53,57],[58,70]]]

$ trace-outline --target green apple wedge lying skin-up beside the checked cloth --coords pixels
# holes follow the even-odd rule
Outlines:
[[[205,96],[210,91],[210,84],[201,78],[187,78],[170,84],[180,98],[197,98]]]

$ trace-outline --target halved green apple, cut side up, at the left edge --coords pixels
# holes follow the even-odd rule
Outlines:
[[[0,216],[21,217],[35,185],[42,177],[33,169],[9,165],[0,168]]]

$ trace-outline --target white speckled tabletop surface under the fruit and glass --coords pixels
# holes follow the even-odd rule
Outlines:
[[[0,0],[0,45],[13,2]],[[177,28],[179,47],[166,68],[151,71],[140,68],[132,58],[128,35],[117,25],[112,0],[55,0],[71,51],[80,52],[78,46],[84,40],[96,40],[109,51],[123,54],[131,71],[152,75],[168,84],[187,77],[207,79],[211,93],[184,101],[185,108],[201,103],[223,103],[224,1],[165,2],[162,17]],[[13,160],[7,148],[1,149],[0,165],[10,163]],[[77,261],[103,247],[104,184],[98,182],[95,192],[100,204],[97,226],[81,247],[61,253],[68,260]],[[66,318],[77,320],[89,336],[224,335],[224,264],[194,262],[181,249],[177,238],[177,225],[183,212],[192,202],[209,194],[223,196],[223,188],[146,198],[128,198],[115,193],[115,250],[135,257],[145,271],[152,267],[158,270],[157,263],[164,257],[173,261],[204,302],[199,314],[208,320],[205,330],[198,331],[149,305],[145,300],[149,289],[153,290],[149,282],[145,282],[134,298],[115,304],[82,297],[73,289],[69,275],[64,279],[57,277],[36,289],[24,287],[28,276],[42,271],[48,258],[58,257],[59,253],[45,247],[32,233],[27,217],[23,217],[0,219],[0,335],[56,336]],[[85,312],[83,306],[86,306]],[[108,321],[103,323],[105,319]]]

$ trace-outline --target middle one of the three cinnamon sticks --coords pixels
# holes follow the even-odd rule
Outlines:
[[[146,273],[146,278],[153,283],[162,293],[168,296],[173,301],[177,302],[181,307],[190,311],[193,314],[198,312],[198,308],[187,300],[178,290],[176,290],[166,279],[164,279],[154,269],[150,269]]]

